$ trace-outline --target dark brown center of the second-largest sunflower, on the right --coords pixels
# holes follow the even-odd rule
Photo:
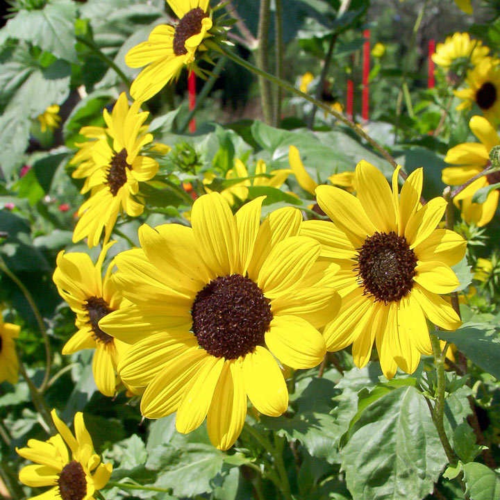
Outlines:
[[[365,295],[383,303],[399,301],[413,288],[417,256],[394,231],[374,233],[358,249],[358,278]]]

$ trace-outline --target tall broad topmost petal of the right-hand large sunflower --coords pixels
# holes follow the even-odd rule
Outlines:
[[[358,200],[378,231],[396,231],[392,192],[382,172],[365,160],[356,165],[354,185]]]

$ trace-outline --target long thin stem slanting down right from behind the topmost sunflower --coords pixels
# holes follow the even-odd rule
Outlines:
[[[295,88],[293,85],[288,83],[287,81],[281,80],[280,78],[276,78],[276,76],[269,74],[262,69],[259,69],[258,67],[252,65],[248,61],[240,58],[240,56],[237,56],[235,53],[233,53],[231,50],[227,49],[226,47],[222,45],[218,45],[212,40],[206,40],[204,42],[207,47],[210,47],[210,49],[213,49],[215,51],[219,51],[224,53],[225,56],[228,57],[228,59],[233,60],[235,63],[239,64],[240,66],[248,69],[250,72],[257,74],[258,76],[262,76],[263,78],[267,78],[270,82],[274,83],[275,85],[280,85],[281,88],[284,90],[287,90],[291,94],[295,94],[302,99],[306,99],[306,101],[309,101],[310,103],[313,103],[315,106],[317,106],[319,109],[323,110],[325,113],[328,113],[329,115],[332,115],[336,119],[338,119],[339,122],[342,122],[344,125],[348,126],[351,128],[356,134],[358,134],[361,138],[366,140],[378,153],[387,160],[388,163],[392,165],[392,167],[396,168],[397,167],[397,161],[390,156],[390,154],[381,146],[381,144],[378,144],[376,140],[372,139],[365,131],[363,131],[363,128],[359,127],[356,125],[352,120],[347,118],[346,116],[342,115],[342,113],[338,113],[338,111],[335,111],[330,108],[330,106],[326,106],[326,104],[322,103],[321,101],[318,101],[314,97],[304,94],[301,92],[298,88]],[[401,178],[406,179],[406,174],[399,170],[399,176]]]

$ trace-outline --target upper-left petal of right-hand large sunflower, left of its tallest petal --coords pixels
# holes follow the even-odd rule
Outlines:
[[[352,194],[333,186],[320,185],[316,188],[316,197],[324,213],[346,233],[355,248],[361,247],[367,236],[377,230],[361,202]]]

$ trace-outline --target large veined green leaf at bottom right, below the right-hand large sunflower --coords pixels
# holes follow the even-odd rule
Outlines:
[[[421,500],[447,463],[422,394],[400,387],[369,405],[342,450],[356,499]]]

